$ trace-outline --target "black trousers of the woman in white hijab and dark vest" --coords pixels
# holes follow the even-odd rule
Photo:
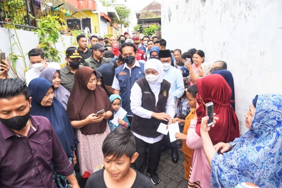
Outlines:
[[[159,142],[156,142],[154,144],[149,144],[147,142],[144,142],[142,139],[137,138],[134,136],[135,142],[136,142],[136,152],[139,153],[138,158],[135,160],[134,163],[134,169],[144,173],[144,168],[146,167],[146,156],[147,151],[146,148],[149,147],[150,155],[148,159],[148,169],[147,172],[155,172],[158,169],[158,165],[160,162],[160,153],[161,153],[161,147],[162,147],[162,140]]]

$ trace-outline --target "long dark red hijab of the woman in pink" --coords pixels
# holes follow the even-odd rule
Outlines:
[[[199,91],[196,95],[196,101],[199,104],[196,109],[198,116],[196,133],[201,136],[201,119],[206,116],[206,107],[201,102],[202,99],[204,103],[213,102],[213,111],[219,118],[215,126],[211,127],[208,132],[213,145],[218,142],[232,142],[235,138],[240,137],[238,117],[229,103],[232,90],[226,80],[219,74],[211,74],[197,79],[196,86]]]

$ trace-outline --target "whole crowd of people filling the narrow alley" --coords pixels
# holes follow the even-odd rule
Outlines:
[[[166,149],[184,154],[188,187],[282,186],[282,94],[255,96],[240,137],[226,62],[156,35],[76,40],[63,67],[31,49],[25,81],[2,60],[0,187],[154,187]]]

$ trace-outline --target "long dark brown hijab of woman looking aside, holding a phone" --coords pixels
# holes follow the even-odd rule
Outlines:
[[[112,110],[112,103],[108,98],[105,90],[96,84],[96,89],[90,91],[87,83],[91,74],[96,75],[96,71],[90,67],[82,67],[78,69],[74,75],[74,86],[67,103],[67,114],[71,121],[80,121],[88,117],[92,113],[104,109],[105,112]],[[80,128],[84,135],[94,135],[103,133],[106,130],[107,120],[97,123],[90,123]]]

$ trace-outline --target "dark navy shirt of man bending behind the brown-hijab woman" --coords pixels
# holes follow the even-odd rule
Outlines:
[[[115,68],[110,63],[105,63],[100,67],[98,67],[97,71],[99,71],[103,76],[101,87],[103,87],[103,89],[105,89],[106,93],[108,94],[105,85],[108,86],[113,85],[113,81],[115,77]],[[111,94],[108,94],[108,96],[110,95]]]

